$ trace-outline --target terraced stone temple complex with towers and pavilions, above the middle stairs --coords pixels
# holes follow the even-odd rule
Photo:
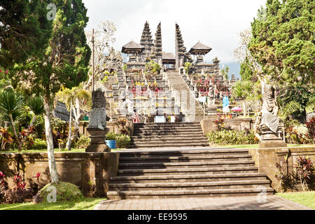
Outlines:
[[[183,42],[179,25],[175,25],[175,54],[162,51],[161,22],[151,35],[148,22],[139,43],[130,41],[123,45],[127,54],[123,72],[118,71],[117,83],[112,84],[108,98],[118,102],[119,117],[137,116],[140,122],[167,119],[200,122],[207,116],[208,107],[218,104],[225,94],[230,94],[234,80],[226,80],[220,73],[219,60],[204,62],[211,48],[198,41],[189,51]],[[160,65],[160,69],[153,66]],[[109,97],[111,94],[111,97]],[[207,105],[197,101],[209,97]],[[165,120],[164,120],[165,121]]]

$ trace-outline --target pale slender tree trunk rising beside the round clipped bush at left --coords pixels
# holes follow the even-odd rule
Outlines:
[[[51,128],[51,123],[50,123],[50,99],[48,96],[45,96],[45,99],[44,99],[44,109],[45,109],[45,114],[44,114],[45,135],[46,135],[46,141],[47,141],[50,179],[51,179],[51,183],[59,183],[56,161],[55,161],[54,143],[52,140],[52,128]]]

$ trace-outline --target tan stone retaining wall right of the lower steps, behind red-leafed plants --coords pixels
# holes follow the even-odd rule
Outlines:
[[[279,188],[279,181],[274,176],[276,174],[276,162],[280,163],[283,158],[288,155],[288,170],[290,174],[293,171],[293,165],[296,163],[297,158],[300,155],[309,156],[312,162],[315,162],[315,146],[307,147],[286,147],[286,148],[255,148],[250,149],[249,153],[253,156],[255,160],[255,166],[258,167],[258,172],[267,174],[268,178],[272,181],[272,188],[277,192],[281,192]],[[300,184],[298,184],[297,189],[301,190]]]

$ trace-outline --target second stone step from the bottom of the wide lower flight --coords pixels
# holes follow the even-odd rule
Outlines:
[[[186,183],[110,183],[109,190],[204,190],[204,189],[227,189],[227,188],[268,188],[270,181],[211,181],[211,182],[186,182]]]

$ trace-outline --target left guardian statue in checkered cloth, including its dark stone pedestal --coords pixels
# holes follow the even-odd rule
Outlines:
[[[92,92],[92,111],[87,133],[91,139],[85,152],[109,152],[106,146],[106,98],[104,91],[98,88]]]

